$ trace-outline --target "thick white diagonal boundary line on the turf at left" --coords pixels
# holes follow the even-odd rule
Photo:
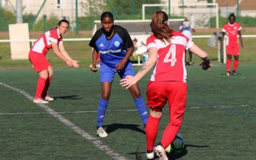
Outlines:
[[[14,90],[15,92],[18,92],[18,93],[24,95],[27,99],[33,101],[33,97],[31,97],[31,95],[29,95],[29,93],[24,92],[23,90],[20,90],[18,88],[15,88],[13,86],[10,86],[8,84],[1,83],[1,82],[0,82],[0,85],[4,86],[6,88],[10,88],[11,90]],[[81,129],[79,126],[77,126],[75,124],[72,124],[72,122],[70,122],[69,120],[67,120],[63,116],[61,116],[59,113],[57,113],[56,111],[51,109],[49,106],[46,106],[45,104],[37,104],[37,105],[40,106],[45,111],[47,111],[47,113],[54,116],[54,118],[57,118],[58,120],[60,120],[60,122],[67,125],[68,127],[70,127],[73,131],[77,132],[77,134],[80,134],[84,139],[92,142],[93,145],[95,145],[100,150],[106,152],[106,154],[108,154],[113,159],[118,159],[118,160],[119,159],[125,159],[125,157],[120,156],[120,154],[115,153],[111,148],[108,147],[108,145],[104,145],[102,143],[102,141],[97,140],[97,138],[94,138],[93,136],[91,136],[87,132],[83,131],[83,129]]]

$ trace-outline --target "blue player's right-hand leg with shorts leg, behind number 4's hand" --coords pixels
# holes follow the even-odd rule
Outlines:
[[[134,76],[134,70],[132,67],[132,63],[128,63],[127,66],[123,69],[118,71],[118,75],[120,76],[121,79],[125,78],[127,75]],[[140,88],[138,84],[134,84],[129,88],[129,91],[134,99],[134,104],[136,108],[138,109],[138,112],[140,114],[140,118],[143,121],[144,124],[144,129],[145,129],[145,124],[147,123],[148,120],[148,115],[147,115],[147,108],[145,106],[143,97],[141,97],[140,93]]]

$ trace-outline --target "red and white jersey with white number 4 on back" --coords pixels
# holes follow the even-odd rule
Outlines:
[[[171,42],[162,42],[154,35],[147,38],[147,49],[156,47],[157,63],[150,81],[180,81],[186,82],[185,49],[194,43],[182,33],[173,31]]]

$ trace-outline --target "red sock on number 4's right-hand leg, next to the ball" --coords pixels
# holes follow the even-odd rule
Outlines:
[[[161,144],[163,148],[168,147],[170,143],[175,139],[176,134],[178,133],[180,129],[180,124],[178,125],[171,125],[168,124],[167,127],[164,129],[163,137],[161,140]]]

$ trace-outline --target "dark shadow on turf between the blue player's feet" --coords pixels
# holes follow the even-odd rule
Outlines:
[[[145,131],[143,131],[143,126],[138,127],[140,125],[136,124],[111,124],[111,125],[103,125],[102,127],[106,127],[106,132],[111,133],[116,131],[117,129],[131,129],[133,131],[141,132],[145,134]]]

